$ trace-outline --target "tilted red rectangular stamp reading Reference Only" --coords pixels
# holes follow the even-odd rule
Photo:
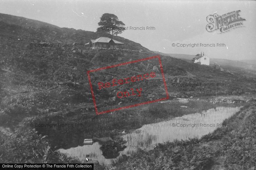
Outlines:
[[[160,56],[87,71],[96,114],[169,99]]]

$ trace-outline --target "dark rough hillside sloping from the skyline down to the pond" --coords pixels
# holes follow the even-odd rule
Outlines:
[[[0,143],[3,144],[0,145],[0,153],[4,153],[4,156],[0,157],[0,162],[20,163],[28,160],[40,162],[43,158],[34,160],[34,157],[26,157],[26,154],[39,155],[38,153],[48,153],[48,151],[48,162],[74,162],[74,159],[60,156],[55,151],[59,148],[81,145],[85,138],[106,137],[113,134],[113,131],[116,134],[122,132],[124,127],[125,130],[131,130],[146,123],[160,121],[158,117],[161,116],[161,120],[168,118],[169,112],[166,110],[162,112],[161,108],[154,108],[154,105],[117,111],[115,112],[117,114],[95,116],[86,72],[158,55],[139,43],[114,36],[114,39],[125,44],[124,50],[34,46],[41,41],[49,44],[86,43],[101,36],[111,37],[107,34],[59,28],[40,21],[0,14]],[[233,75],[212,66],[201,66],[165,54],[161,54],[160,57],[170,99],[249,95],[256,92],[256,79]],[[146,65],[139,63],[138,66],[117,69],[108,75],[102,72],[93,78],[109,81],[113,76],[124,78],[128,75],[144,74],[152,71],[154,64],[158,64],[158,61],[152,60]],[[146,85],[148,87],[143,99],[149,100],[163,95],[161,92],[163,86],[159,85],[161,81],[155,78],[150,83],[143,82],[143,88]],[[36,87],[35,83],[83,83],[83,86]],[[225,83],[225,87],[189,85],[197,83]],[[109,91],[111,92],[114,90]],[[102,98],[100,103],[102,108],[122,106],[126,103],[134,104],[140,100],[128,98],[113,102],[115,96],[109,93],[96,96]],[[184,114],[180,110],[180,105],[174,108],[168,111],[171,110],[174,115]],[[157,115],[157,112],[164,115]],[[46,129],[31,126],[38,122],[45,124],[83,122],[85,127]],[[5,137],[9,133],[15,135]],[[19,150],[19,146],[22,149]],[[7,150],[9,152],[6,152]],[[23,155],[22,158],[20,155]]]

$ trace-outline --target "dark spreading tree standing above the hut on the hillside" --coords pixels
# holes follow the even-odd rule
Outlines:
[[[104,13],[99,21],[97,32],[109,33],[111,35],[117,35],[124,31],[124,23],[118,20],[118,17],[111,13]]]

